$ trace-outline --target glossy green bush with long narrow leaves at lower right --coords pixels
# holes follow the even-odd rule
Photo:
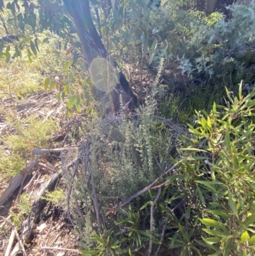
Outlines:
[[[224,106],[197,112],[150,200],[122,207],[115,227],[91,233],[96,248],[84,255],[254,255],[255,91],[226,94]]]

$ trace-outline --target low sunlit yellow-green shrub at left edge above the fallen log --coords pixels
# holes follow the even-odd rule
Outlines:
[[[47,119],[44,123],[33,118],[20,119],[12,126],[15,132],[0,139],[0,181],[10,179],[25,168],[25,160],[31,157],[34,147],[49,147],[50,137],[57,129],[52,119]]]

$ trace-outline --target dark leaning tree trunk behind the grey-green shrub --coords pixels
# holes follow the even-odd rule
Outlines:
[[[77,27],[77,33],[82,43],[82,50],[85,54],[88,64],[90,65],[94,60],[94,56],[92,56],[91,49],[94,49],[98,52],[99,56],[106,59],[110,64],[117,68],[117,64],[110,59],[108,53],[106,51],[105,45],[101,40],[101,37],[94,26],[94,22],[91,17],[91,10],[89,6],[89,0],[63,0],[66,8],[69,11],[69,14],[73,18],[73,22]],[[120,71],[119,72],[119,84],[116,85],[117,87],[122,86],[123,90],[129,96],[129,100],[131,100],[132,107],[138,107],[138,100],[129,87],[128,81],[124,74]],[[99,95],[101,97],[104,96],[103,91],[99,91]],[[108,91],[108,96],[110,98],[110,102],[112,104],[112,111],[116,112],[120,109],[119,104],[119,93],[117,90],[112,89]]]

